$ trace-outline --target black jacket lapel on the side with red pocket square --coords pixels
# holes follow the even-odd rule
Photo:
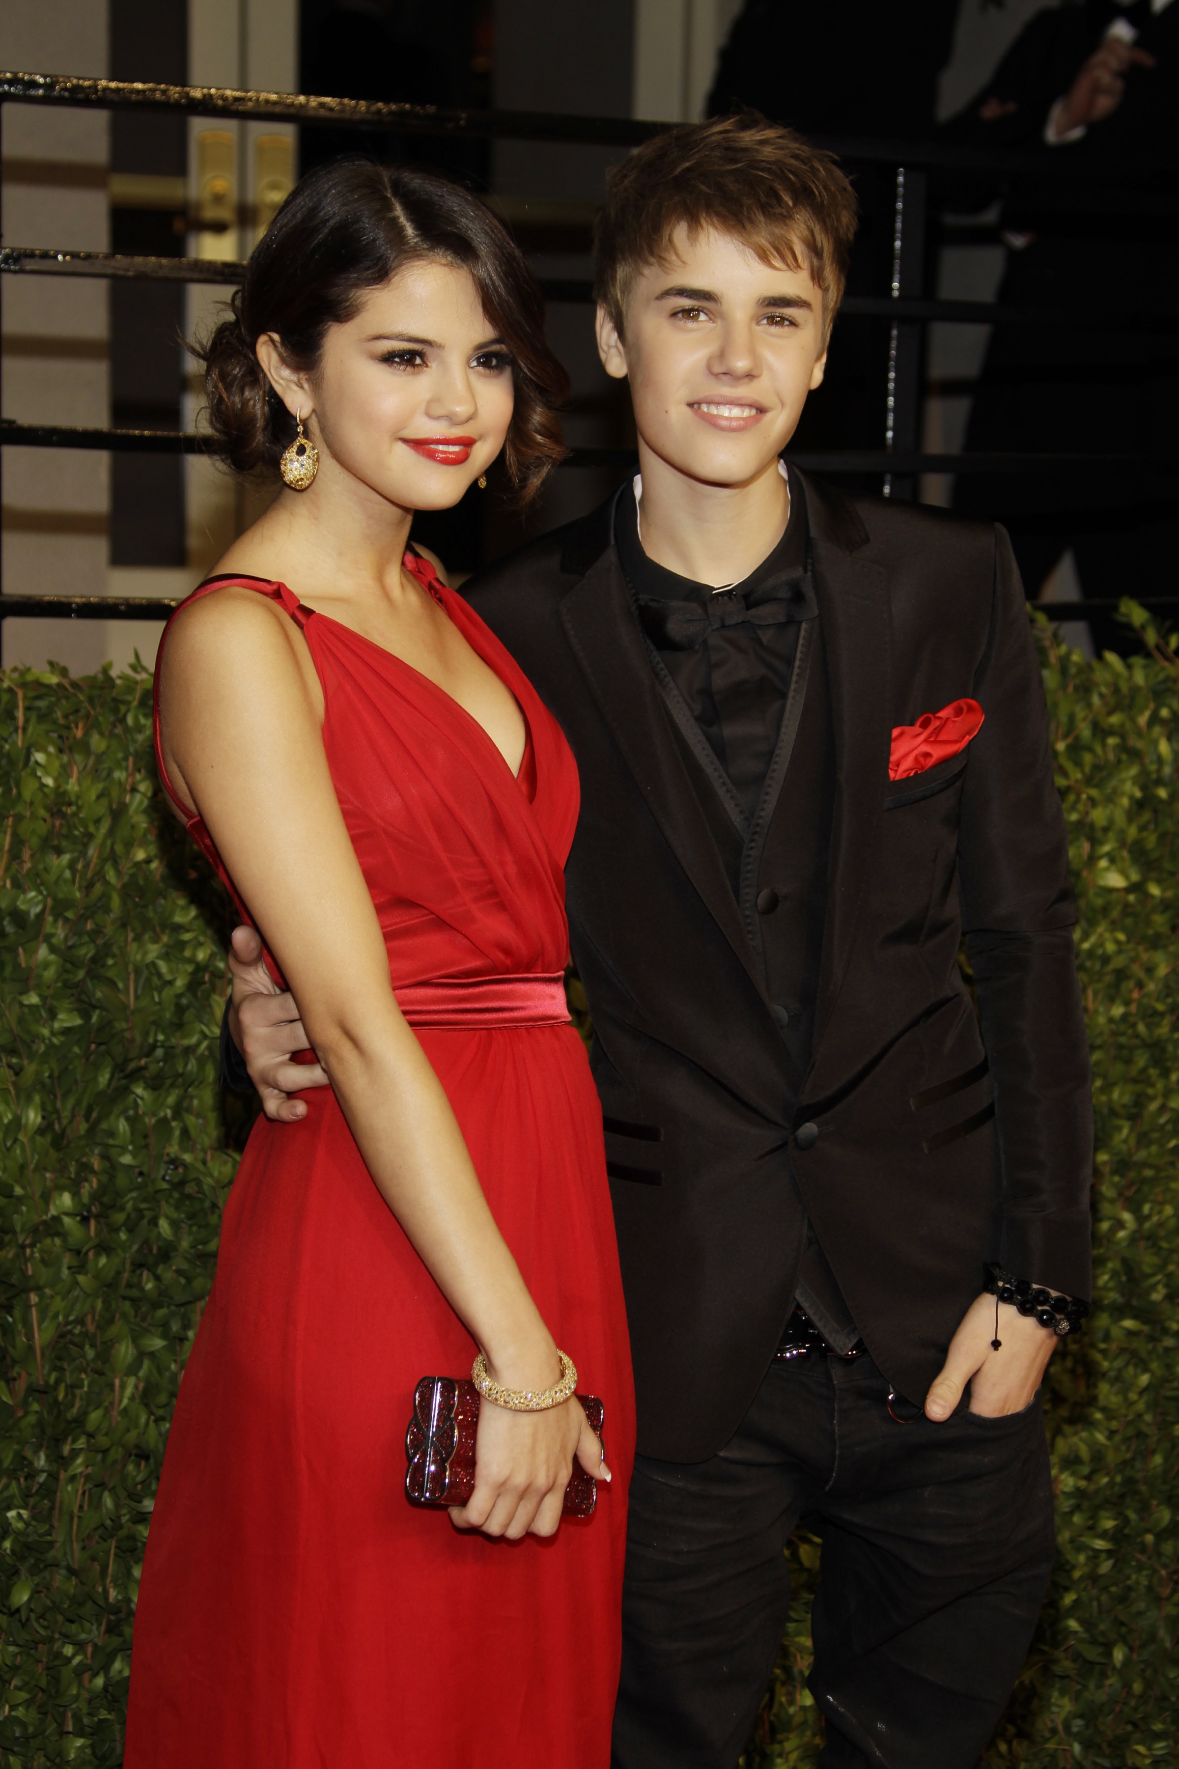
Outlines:
[[[867,531],[855,506],[830,486],[820,488],[811,481],[804,486],[836,727],[836,805],[816,1053],[804,1090],[816,1097],[821,1093],[821,1038],[852,957],[889,780],[892,623],[885,571],[857,557]]]

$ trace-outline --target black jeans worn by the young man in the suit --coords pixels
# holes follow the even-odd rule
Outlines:
[[[786,1626],[800,1518],[823,1539],[823,1769],[979,1762],[1052,1569],[1039,1401],[898,1424],[887,1396],[867,1357],[772,1364],[712,1461],[637,1458],[614,1769],[735,1769]]]

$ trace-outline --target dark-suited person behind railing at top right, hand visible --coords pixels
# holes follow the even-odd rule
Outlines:
[[[944,136],[1044,163],[1067,156],[1076,168],[1138,161],[1158,168],[1158,189],[1179,161],[1177,104],[1179,5],[1085,0],[1037,12]],[[1007,189],[998,301],[1044,308],[1044,320],[995,327],[967,449],[1087,456],[1172,446],[1179,237],[1174,214],[1137,200],[1142,182],[1128,193],[1094,180],[1083,196],[1071,182]],[[997,195],[991,184],[974,202]],[[1163,313],[1172,329],[1128,325],[1135,311]],[[954,508],[1007,527],[1032,596],[1067,548],[1085,596],[1174,587],[1175,479],[1147,463],[963,474]]]

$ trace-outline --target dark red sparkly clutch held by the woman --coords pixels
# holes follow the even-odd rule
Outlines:
[[[597,1394],[579,1394],[586,1419],[602,1436],[605,1408]],[[474,1491],[474,1431],[480,1422],[480,1390],[453,1376],[423,1376],[414,1389],[414,1415],[405,1433],[405,1498],[411,1505],[466,1505]],[[598,1482],[574,1463],[565,1488],[565,1516],[590,1518],[598,1502]]]

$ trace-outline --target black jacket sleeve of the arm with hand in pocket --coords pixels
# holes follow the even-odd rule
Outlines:
[[[967,953],[995,1088],[1000,1260],[1090,1295],[1092,1106],[1073,950],[1067,831],[1023,586],[997,531],[984,724],[967,768],[958,876]]]

